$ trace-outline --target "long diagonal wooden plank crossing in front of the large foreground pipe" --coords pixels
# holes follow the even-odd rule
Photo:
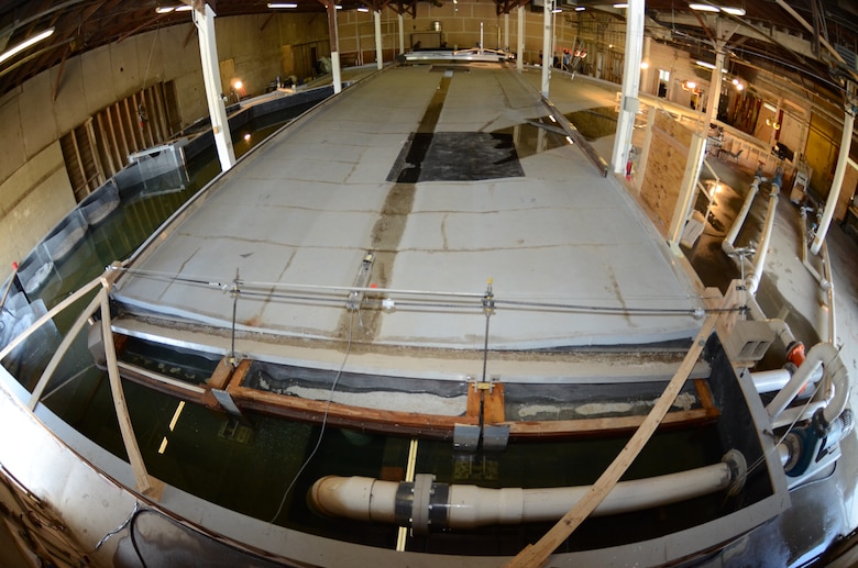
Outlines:
[[[676,399],[682,386],[685,383],[689,374],[697,363],[703,347],[706,345],[706,341],[712,335],[715,328],[715,322],[717,315],[711,314],[703,322],[697,336],[694,338],[689,353],[685,354],[685,358],[682,360],[676,374],[668,383],[664,392],[659,400],[652,406],[652,410],[647,415],[646,420],[640,424],[640,427],[631,436],[626,446],[619,452],[619,455],[608,466],[608,468],[600,476],[593,486],[587,490],[584,497],[575,503],[563,517],[539,539],[535,545],[528,545],[521,550],[515,558],[513,558],[506,566],[507,568],[534,568],[537,566],[543,566],[548,560],[548,557],[565,542],[569,536],[575,532],[575,530],[590,516],[596,506],[607,497],[614,486],[617,485],[623,474],[631,466],[631,463],[638,456],[644,445],[656,432],[656,428],[664,419],[668,410]]]

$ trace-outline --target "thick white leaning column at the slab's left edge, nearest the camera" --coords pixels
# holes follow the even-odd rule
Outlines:
[[[221,171],[235,164],[235,151],[232,147],[227,109],[223,105],[223,86],[220,82],[218,64],[218,44],[215,36],[215,11],[209,4],[202,10],[194,10],[194,24],[199,37],[199,55],[202,62],[202,82],[206,86],[206,100],[209,103],[211,131],[215,133],[215,147],[218,149]]]

